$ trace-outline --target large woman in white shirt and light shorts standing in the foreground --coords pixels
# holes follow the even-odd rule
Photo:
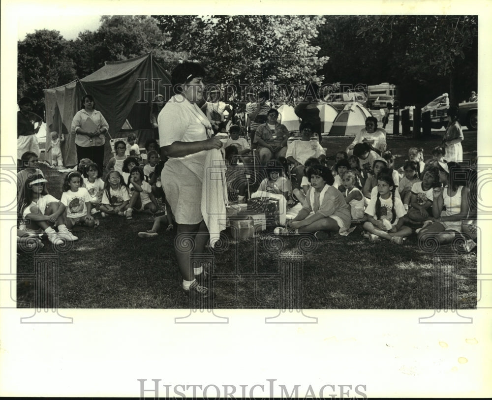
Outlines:
[[[222,142],[212,137],[212,125],[200,110],[205,70],[196,62],[178,64],[171,73],[176,93],[158,117],[161,155],[169,157],[161,172],[166,199],[177,223],[174,243],[183,290],[195,298],[210,298],[214,293],[198,284],[206,272],[191,268],[192,255],[205,253],[209,231],[201,213],[202,181],[208,152],[220,149]]]

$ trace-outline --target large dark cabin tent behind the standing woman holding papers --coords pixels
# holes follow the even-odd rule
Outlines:
[[[139,145],[146,138],[154,137],[155,132],[150,124],[152,101],[157,94],[164,95],[166,101],[169,99],[171,76],[153,60],[152,53],[148,53],[130,60],[106,62],[85,78],[58,88],[45,89],[46,148],[51,142],[51,131],[66,135],[62,143],[65,166],[77,164],[75,135],[70,128],[86,93],[92,94],[95,108],[109,124],[104,151],[106,164],[111,157],[109,140],[128,134],[121,132],[126,120],[137,133]]]

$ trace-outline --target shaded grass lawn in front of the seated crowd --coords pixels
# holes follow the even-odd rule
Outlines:
[[[435,134],[425,140],[388,135],[388,147],[400,167],[408,148],[424,148],[425,158],[440,144]],[[464,131],[465,159],[477,155],[477,133]],[[332,160],[352,138],[323,138]],[[50,193],[61,197],[61,174],[41,166],[49,180]],[[99,218],[94,229],[76,228],[79,240],[67,252],[58,253],[59,308],[188,308],[181,291],[181,277],[174,255],[174,234],[159,232],[155,240],[137,236],[152,227],[148,214],[132,220]],[[416,236],[405,245],[369,243],[358,227],[348,237],[331,236],[323,242],[306,237],[276,237],[272,230],[257,238],[233,240],[223,232],[213,259],[216,308],[278,308],[281,298],[280,262],[302,263],[302,308],[434,308],[434,264],[447,278],[443,285],[458,288],[457,308],[476,308],[476,251],[456,253],[442,246],[436,253],[418,245]],[[53,253],[51,243],[36,254],[17,257],[17,273],[34,271],[37,255]],[[449,256],[452,256],[449,261]],[[448,260],[448,261],[446,261]],[[454,270],[450,264],[455,264]],[[470,277],[471,274],[471,277]],[[466,279],[464,278],[466,276]],[[291,282],[292,283],[292,282]],[[298,282],[299,283],[299,282]],[[444,292],[444,291],[443,291]],[[452,296],[450,291],[445,291]],[[283,292],[282,292],[283,293]],[[19,307],[34,307],[34,282],[19,279]],[[450,304],[450,297],[440,299]],[[441,306],[438,305],[437,308]]]

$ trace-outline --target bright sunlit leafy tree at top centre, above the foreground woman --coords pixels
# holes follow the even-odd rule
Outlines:
[[[155,16],[175,51],[200,61],[215,84],[305,84],[328,60],[311,44],[322,17]]]

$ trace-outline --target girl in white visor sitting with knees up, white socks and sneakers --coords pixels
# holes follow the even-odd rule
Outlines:
[[[30,234],[44,231],[54,245],[62,245],[63,240],[77,240],[66,227],[65,206],[48,193],[47,182],[42,175],[31,176],[25,182],[25,198],[21,206],[23,223],[19,229]],[[53,229],[55,223],[58,232]]]

